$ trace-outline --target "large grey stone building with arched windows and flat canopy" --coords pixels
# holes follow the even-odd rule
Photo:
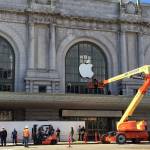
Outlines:
[[[101,81],[149,64],[149,57],[148,4],[1,0],[0,120],[85,120],[91,130],[114,129],[142,81],[93,90],[79,65],[89,60]],[[149,120],[149,105],[145,98],[135,117]]]

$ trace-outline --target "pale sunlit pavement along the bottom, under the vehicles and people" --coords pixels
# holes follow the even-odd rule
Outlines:
[[[23,145],[13,146],[8,144],[6,147],[0,147],[0,150],[150,150],[150,143],[140,144],[95,144],[95,143],[73,143],[69,146],[67,143],[58,143],[57,145],[29,145],[25,148]]]

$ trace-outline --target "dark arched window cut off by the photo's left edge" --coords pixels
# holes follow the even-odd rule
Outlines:
[[[0,91],[14,91],[15,55],[7,40],[0,37]]]

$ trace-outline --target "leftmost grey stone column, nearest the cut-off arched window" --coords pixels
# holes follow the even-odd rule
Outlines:
[[[34,69],[34,24],[29,23],[28,69]]]

